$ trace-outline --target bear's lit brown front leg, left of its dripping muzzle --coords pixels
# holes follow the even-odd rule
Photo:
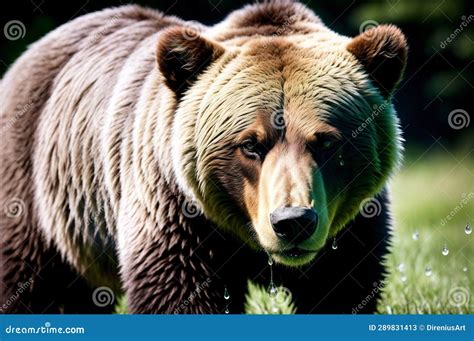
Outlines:
[[[139,204],[121,209],[118,221],[122,282],[130,313],[223,313],[223,284],[213,271],[213,231],[200,217],[183,215],[174,201],[156,216]]]

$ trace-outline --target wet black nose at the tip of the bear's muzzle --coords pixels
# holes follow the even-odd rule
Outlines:
[[[318,214],[307,207],[282,207],[270,213],[270,223],[278,237],[299,244],[316,230]]]

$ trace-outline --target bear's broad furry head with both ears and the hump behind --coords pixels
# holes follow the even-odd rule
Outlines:
[[[170,28],[157,64],[176,98],[180,189],[218,227],[298,266],[397,165],[391,98],[407,44],[391,25],[347,38],[301,5],[281,6],[244,8],[201,32]]]

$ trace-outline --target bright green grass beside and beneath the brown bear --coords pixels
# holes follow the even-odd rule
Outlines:
[[[474,233],[464,231],[468,223],[474,226],[474,153],[412,152],[391,188],[393,243],[378,312],[474,313]],[[452,218],[442,224],[452,211]],[[449,249],[447,256],[442,254],[444,246]],[[431,276],[425,274],[427,267]],[[249,282],[247,313],[291,314],[295,310],[287,292],[270,297],[266,288]],[[126,312],[124,299],[116,311]]]

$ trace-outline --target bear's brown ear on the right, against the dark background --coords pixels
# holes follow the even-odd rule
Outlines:
[[[402,78],[408,46],[403,33],[393,25],[380,25],[353,38],[347,45],[365,67],[385,97],[390,97]]]

